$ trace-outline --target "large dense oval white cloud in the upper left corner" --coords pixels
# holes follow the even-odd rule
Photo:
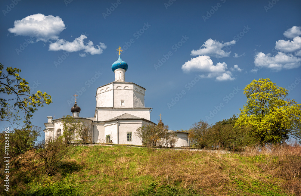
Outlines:
[[[40,40],[47,42],[49,39],[58,39],[58,35],[65,28],[65,24],[59,16],[33,14],[22,20],[16,20],[14,28],[10,28],[8,31],[17,36],[33,36],[37,42]]]

